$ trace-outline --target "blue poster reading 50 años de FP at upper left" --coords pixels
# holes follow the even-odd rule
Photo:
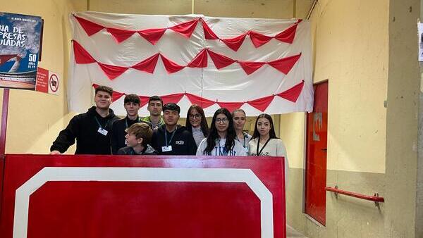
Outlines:
[[[42,20],[0,12],[0,87],[35,90]]]

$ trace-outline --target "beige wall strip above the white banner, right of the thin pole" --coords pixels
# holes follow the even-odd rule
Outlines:
[[[194,13],[228,18],[293,18],[293,0],[195,0]]]

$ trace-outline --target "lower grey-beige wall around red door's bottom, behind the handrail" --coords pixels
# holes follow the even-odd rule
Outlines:
[[[307,237],[386,237],[384,233],[384,203],[380,209],[372,201],[326,192],[326,227],[316,225],[302,213],[302,183],[304,170],[290,168],[286,192],[286,219],[289,225]],[[362,194],[385,194],[385,175],[329,170],[328,186],[338,184],[340,189]]]

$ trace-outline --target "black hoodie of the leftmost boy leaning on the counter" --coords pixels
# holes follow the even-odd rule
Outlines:
[[[97,118],[103,129],[107,130],[108,133],[106,135],[98,132],[99,125],[95,118]],[[62,130],[53,142],[50,151],[63,153],[75,143],[76,139],[75,154],[111,154],[111,125],[115,120],[118,120],[118,117],[114,115],[113,110],[109,109],[109,115],[106,118],[102,118],[95,111],[95,106],[92,106],[86,113],[75,115],[71,119],[66,129]]]

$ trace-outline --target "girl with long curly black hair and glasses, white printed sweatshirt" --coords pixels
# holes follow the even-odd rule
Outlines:
[[[235,139],[233,119],[226,108],[218,109],[210,125],[209,136],[197,148],[197,156],[247,156],[247,152]]]

